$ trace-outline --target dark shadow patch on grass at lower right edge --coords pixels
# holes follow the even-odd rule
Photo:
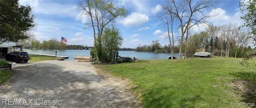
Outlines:
[[[242,92],[243,102],[245,103],[254,103],[256,104],[256,73],[254,72],[239,72],[231,73],[231,75],[238,78],[234,83],[243,82],[244,89],[238,89],[239,92]],[[235,84],[237,85],[237,84]],[[239,86],[239,85],[237,85]],[[254,106],[256,107],[256,106]]]

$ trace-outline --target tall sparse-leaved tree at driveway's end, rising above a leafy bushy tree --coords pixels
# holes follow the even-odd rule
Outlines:
[[[97,60],[102,61],[102,33],[109,23],[113,23],[118,16],[126,16],[125,8],[117,8],[111,0],[85,0],[79,2],[79,10],[82,14],[90,16],[90,22],[87,25],[93,28],[94,51]]]

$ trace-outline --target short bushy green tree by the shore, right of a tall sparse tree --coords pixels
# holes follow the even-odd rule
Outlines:
[[[123,38],[117,28],[114,26],[112,28],[106,28],[102,36],[102,61],[116,61],[116,53],[122,46],[122,43]]]

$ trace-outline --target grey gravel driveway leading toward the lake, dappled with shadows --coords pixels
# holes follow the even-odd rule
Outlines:
[[[19,65],[13,68],[10,79],[0,85],[0,107],[10,107],[3,104],[7,99],[27,103],[32,100],[25,107],[140,106],[124,81],[95,71],[90,62],[49,60]],[[48,105],[42,105],[45,101]],[[49,101],[62,105],[49,105]]]

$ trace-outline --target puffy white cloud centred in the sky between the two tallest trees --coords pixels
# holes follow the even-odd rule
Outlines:
[[[123,20],[119,21],[119,23],[122,23],[125,26],[139,26],[148,21],[149,21],[148,15],[133,12],[129,16],[125,17]]]

